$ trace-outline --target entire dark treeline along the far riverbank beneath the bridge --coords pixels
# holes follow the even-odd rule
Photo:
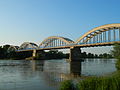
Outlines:
[[[28,57],[32,57],[32,51],[27,52],[15,52],[8,51],[10,45],[0,46],[0,59],[26,59]],[[58,50],[50,50],[48,52],[40,51],[37,52],[37,55],[34,59],[62,59],[69,58],[69,53],[64,54]],[[103,53],[100,55],[92,54],[92,53],[81,53],[80,58],[113,58],[111,54]]]

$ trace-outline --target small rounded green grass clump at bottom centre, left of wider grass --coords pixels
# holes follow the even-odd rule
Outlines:
[[[60,90],[74,90],[71,80],[63,81],[60,85]]]

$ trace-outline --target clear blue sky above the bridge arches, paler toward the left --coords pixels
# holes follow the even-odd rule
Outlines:
[[[49,36],[76,41],[111,23],[120,23],[120,0],[0,0],[0,46],[39,45]]]

